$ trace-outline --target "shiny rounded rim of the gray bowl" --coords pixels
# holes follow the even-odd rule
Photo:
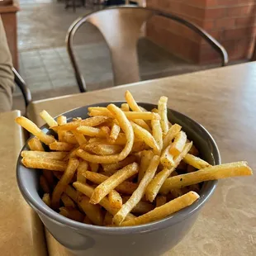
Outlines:
[[[112,102],[100,102],[100,103],[94,103],[90,105],[86,105],[83,107],[96,107],[98,105],[108,105],[111,103],[124,103],[125,101],[112,101]],[[145,105],[154,105],[153,103],[146,103],[146,102],[137,102],[140,104]],[[72,110],[65,111],[58,116],[67,115],[71,111],[76,111],[79,108],[83,107],[76,107]],[[207,135],[208,139],[211,140],[211,145],[213,146],[213,149],[216,151],[216,158],[214,159],[216,164],[220,164],[220,151],[216,145],[216,141],[213,139],[211,134],[206,130],[204,126],[201,126],[197,121],[194,121],[192,118],[184,115],[183,113],[179,111],[175,111],[171,108],[168,108],[168,111],[171,111],[173,113],[177,113],[180,116],[183,116],[184,118],[187,118],[187,120],[192,121],[195,125],[199,126],[203,132]],[[55,119],[58,117],[55,116]],[[47,129],[49,130],[49,126],[45,124],[44,126],[40,127],[41,130]],[[22,147],[21,151],[24,150],[27,146],[28,140],[30,140],[34,135],[31,135],[27,140],[25,145]],[[143,232],[149,232],[153,230],[162,230],[168,226],[175,225],[178,222],[183,221],[184,219],[187,219],[189,216],[192,216],[195,212],[197,212],[205,203],[206,201],[211,197],[212,193],[216,189],[216,185],[218,183],[217,180],[208,181],[206,182],[208,184],[208,190],[207,192],[203,193],[201,197],[197,199],[191,206],[187,206],[181,211],[178,211],[176,213],[173,213],[173,215],[168,216],[162,220],[155,220],[154,222],[150,222],[143,225],[133,225],[133,226],[121,226],[121,227],[106,227],[106,226],[98,226],[98,225],[88,225],[85,223],[81,223],[75,220],[71,220],[67,217],[61,216],[58,212],[51,209],[49,206],[45,204],[44,201],[37,201],[34,197],[32,197],[31,193],[28,191],[27,187],[24,186],[24,183],[22,183],[21,180],[21,152],[17,159],[17,185],[20,189],[21,195],[24,197],[26,202],[40,215],[47,216],[50,218],[50,220],[55,220],[61,225],[67,225],[69,228],[74,230],[90,230],[92,232],[97,232],[97,234],[113,234],[113,235],[126,235],[126,234],[135,234],[135,233],[143,233]],[[26,168],[26,167],[24,167]],[[29,169],[29,168],[28,168]],[[33,170],[34,171],[34,170]]]

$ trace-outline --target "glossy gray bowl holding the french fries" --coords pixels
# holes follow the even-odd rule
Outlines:
[[[65,112],[68,121],[73,117],[88,117],[88,107],[106,107],[111,102],[79,107]],[[114,102],[121,106],[123,102]],[[157,107],[149,103],[140,103],[141,107],[151,110]],[[201,152],[201,157],[210,164],[220,164],[220,154],[207,130],[187,116],[168,109],[169,121],[183,126],[190,140]],[[48,126],[41,129],[48,134]],[[28,145],[22,150],[27,150]],[[77,255],[160,255],[173,248],[183,239],[191,229],[201,206],[211,197],[216,188],[216,181],[206,182],[201,187],[200,198],[182,211],[168,216],[164,220],[155,221],[146,225],[130,227],[102,227],[87,225],[59,215],[46,206],[40,198],[39,172],[25,168],[21,164],[21,155],[17,160],[17,183],[22,196],[27,203],[38,213],[50,233],[66,248]]]

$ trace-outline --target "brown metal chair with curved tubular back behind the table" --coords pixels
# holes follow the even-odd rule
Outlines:
[[[78,28],[82,26],[83,23],[90,22],[101,31],[111,53],[115,85],[135,83],[140,81],[138,56],[136,52],[137,41],[140,38],[140,28],[149,18],[156,15],[177,21],[187,26],[192,31],[197,32],[198,35],[206,40],[220,54],[222,66],[228,63],[228,54],[224,47],[201,27],[190,21],[170,13],[164,13],[145,7],[111,7],[92,12],[84,17],[79,17],[69,27],[66,36],[66,45],[80,92],[86,92],[87,88],[73,53],[73,37],[76,31],[78,31]]]

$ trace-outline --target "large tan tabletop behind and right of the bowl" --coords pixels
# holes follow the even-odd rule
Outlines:
[[[33,102],[28,114],[42,125],[36,114],[43,109],[56,116],[75,107],[123,100],[127,89],[138,102],[157,103],[160,96],[168,96],[168,107],[211,132],[222,163],[247,160],[256,168],[256,63]],[[190,233],[164,255],[255,255],[255,182],[255,175],[221,180]]]

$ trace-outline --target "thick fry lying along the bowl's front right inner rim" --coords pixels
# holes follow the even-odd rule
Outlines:
[[[145,215],[136,217],[133,220],[126,220],[121,225],[142,225],[156,220],[162,220],[167,216],[172,215],[174,212],[180,211],[183,208],[192,205],[194,201],[197,201],[199,195],[196,192],[188,192],[182,197],[168,201],[164,206],[154,208],[153,211],[145,213]]]

